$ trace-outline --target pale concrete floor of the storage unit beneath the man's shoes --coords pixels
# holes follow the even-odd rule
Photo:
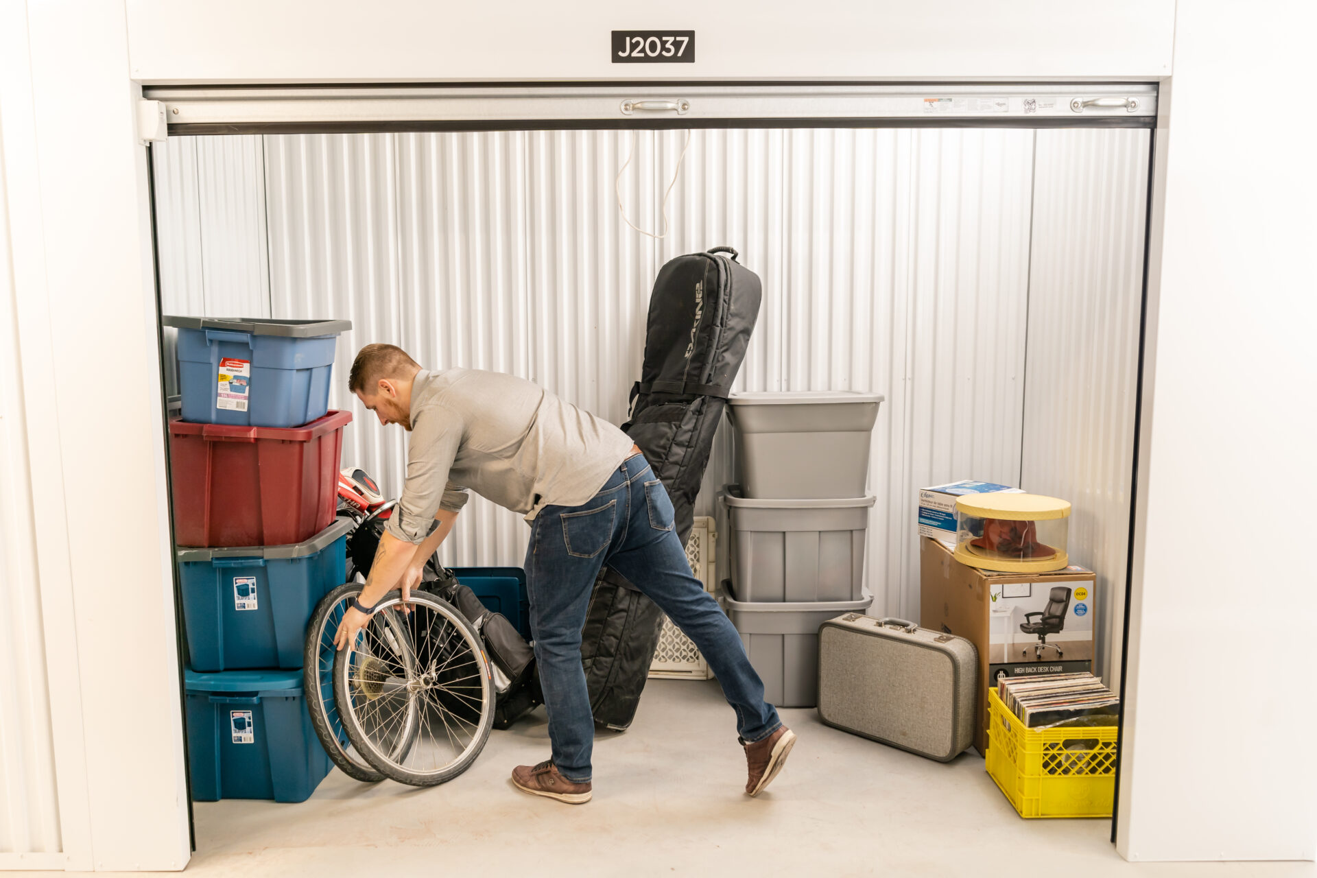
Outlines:
[[[1312,862],[1129,864],[1109,820],[1021,820],[972,752],[948,765],[784,711],[799,735],[759,799],[714,682],[651,681],[632,729],[601,736],[594,800],[519,792],[549,754],[543,708],[466,774],[414,790],[335,771],[303,804],[196,806],[199,875],[1317,877]],[[30,874],[30,873],[29,873]]]

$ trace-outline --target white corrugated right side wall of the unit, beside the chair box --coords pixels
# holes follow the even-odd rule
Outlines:
[[[1038,133],[1022,484],[1068,499],[1097,573],[1094,671],[1119,681],[1148,132]]]

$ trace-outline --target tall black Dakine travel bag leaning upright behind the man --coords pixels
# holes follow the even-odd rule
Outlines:
[[[724,255],[728,254],[728,255]],[[640,380],[631,390],[635,440],[662,480],[682,544],[709,465],[727,394],[759,317],[759,275],[731,247],[677,257],[655,279]],[[581,633],[581,659],[594,721],[631,725],[662,629],[662,612],[624,577],[605,567]]]

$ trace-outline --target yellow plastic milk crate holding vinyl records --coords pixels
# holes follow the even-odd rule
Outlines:
[[[1031,729],[988,690],[988,774],[1022,817],[1109,817],[1117,728]]]

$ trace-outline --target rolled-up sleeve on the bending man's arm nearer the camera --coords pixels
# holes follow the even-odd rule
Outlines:
[[[433,533],[440,509],[466,504],[466,490],[448,480],[466,425],[452,411],[431,407],[416,416],[407,438],[407,482],[385,529],[412,545]]]

